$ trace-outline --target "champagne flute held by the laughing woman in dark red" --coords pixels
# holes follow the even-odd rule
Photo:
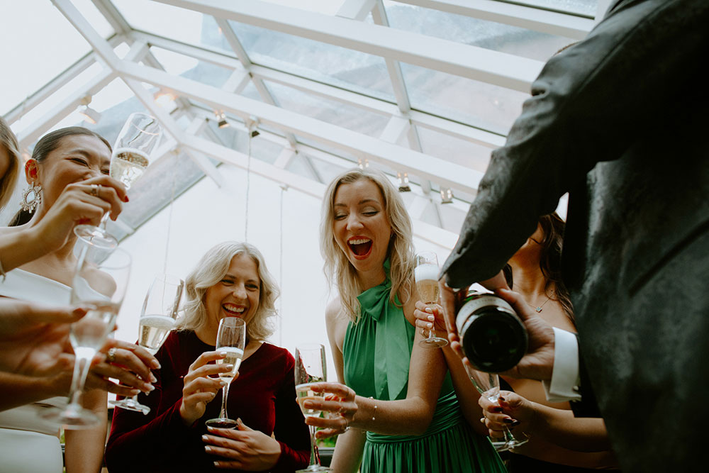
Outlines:
[[[244,357],[244,347],[246,345],[246,323],[238,317],[225,317],[219,321],[217,332],[218,352],[226,352],[226,357],[217,360],[217,365],[232,365],[232,369],[226,373],[219,373],[219,377],[226,384],[222,388],[222,407],[218,418],[209,419],[205,422],[207,427],[214,428],[235,428],[238,424],[230,419],[226,411],[226,401],[229,397],[229,385],[239,372],[241,359]]]

